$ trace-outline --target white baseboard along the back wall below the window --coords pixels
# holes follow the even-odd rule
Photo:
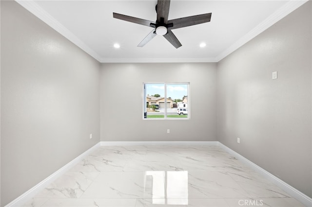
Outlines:
[[[135,146],[135,145],[205,145],[218,146],[218,141],[101,141],[101,146]]]

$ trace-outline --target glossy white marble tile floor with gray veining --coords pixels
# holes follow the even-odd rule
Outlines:
[[[303,207],[218,146],[102,146],[24,207]]]

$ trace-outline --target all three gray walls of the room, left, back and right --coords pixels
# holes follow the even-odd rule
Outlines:
[[[311,1],[218,64],[99,64],[0,2],[1,206],[100,140],[219,140],[312,197]],[[143,82],[190,82],[191,120],[142,120]]]

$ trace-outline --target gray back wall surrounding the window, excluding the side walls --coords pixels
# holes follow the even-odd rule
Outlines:
[[[191,119],[143,120],[143,82],[190,82]],[[216,63],[101,64],[100,105],[101,141],[215,141]]]

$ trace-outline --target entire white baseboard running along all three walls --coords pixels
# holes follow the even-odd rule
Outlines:
[[[52,183],[54,180],[56,180],[60,175],[68,171],[70,168],[74,167],[76,164],[78,164],[79,161],[83,159],[86,155],[89,155],[92,151],[97,149],[99,146],[135,146],[135,145],[202,145],[202,146],[220,146],[222,149],[224,149],[226,152],[230,153],[231,155],[235,156],[237,159],[242,161],[244,164],[249,166],[254,171],[262,174],[266,179],[273,182],[276,186],[278,186],[280,189],[287,192],[289,195],[291,195],[293,198],[300,201],[302,204],[304,204],[307,207],[312,206],[312,198],[309,196],[303,194],[299,190],[296,190],[289,184],[285,183],[278,177],[274,176],[273,174],[267,172],[263,168],[259,167],[258,165],[254,164],[252,161],[248,160],[247,158],[243,157],[242,155],[239,155],[234,150],[228,148],[224,144],[220,143],[219,141],[100,141],[98,144],[94,145],[75,159],[73,159],[71,162],[67,163],[65,166],[60,168],[57,172],[51,174],[46,179],[42,180],[39,184],[31,188],[30,190],[27,190],[25,193],[20,195],[18,198],[16,198],[14,201],[6,205],[5,207],[20,207],[25,202],[27,202],[29,199],[34,197],[40,190],[43,190],[45,187],[47,187],[50,183]]]

